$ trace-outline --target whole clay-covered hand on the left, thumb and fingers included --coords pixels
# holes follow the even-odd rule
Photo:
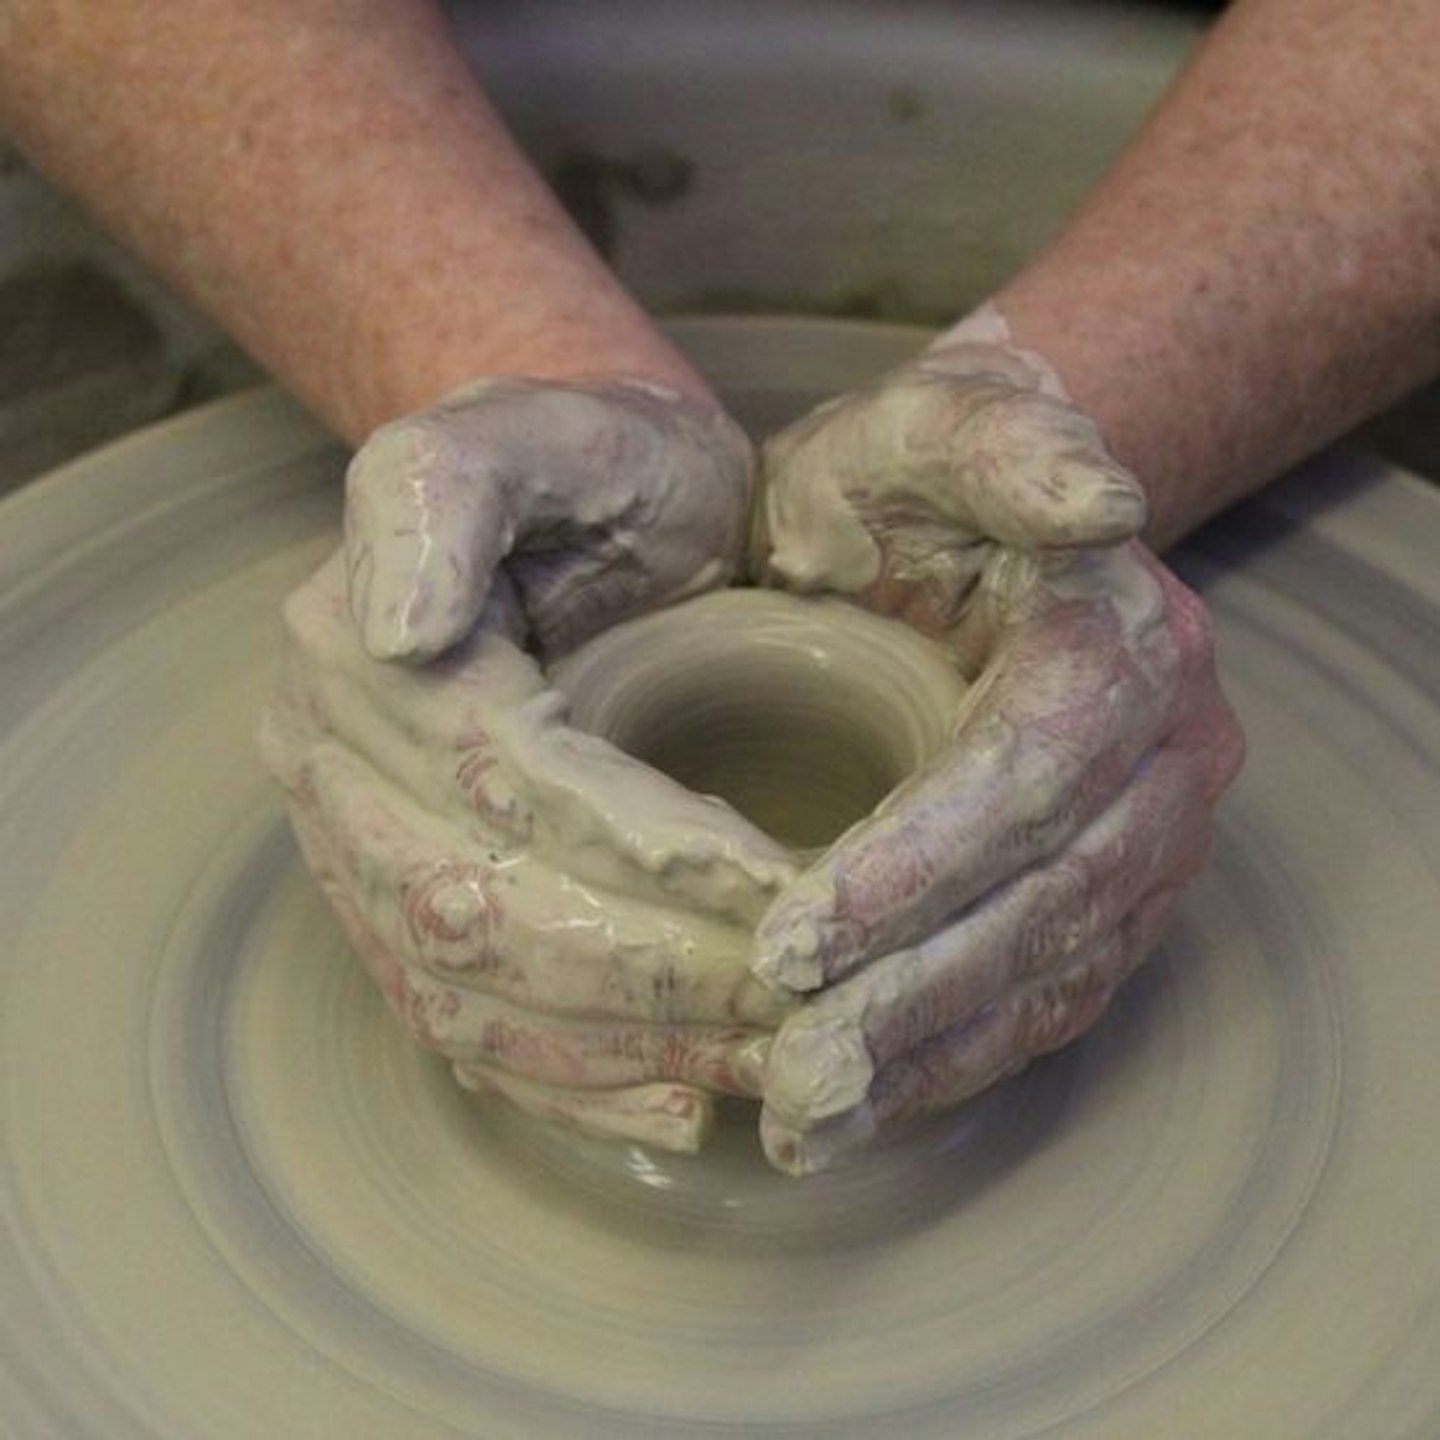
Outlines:
[[[714,1094],[759,1092],[788,1005],[750,939],[793,865],[569,729],[520,645],[733,563],[744,441],[667,405],[505,383],[380,432],[351,469],[347,554],[287,603],[262,749],[390,1009],[461,1083],[694,1149]],[[351,602],[373,648],[445,654],[376,661]]]

